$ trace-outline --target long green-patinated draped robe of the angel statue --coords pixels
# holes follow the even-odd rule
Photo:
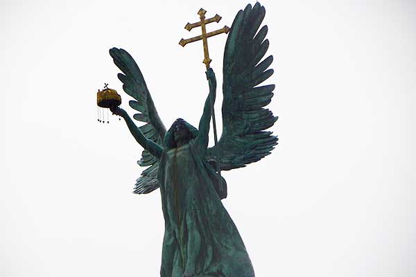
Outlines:
[[[182,277],[189,253],[195,275],[252,277],[243,240],[225,210],[218,175],[202,159],[196,139],[162,153],[159,184],[165,220],[161,277]],[[225,180],[223,180],[225,182]],[[191,238],[199,238],[191,243]]]

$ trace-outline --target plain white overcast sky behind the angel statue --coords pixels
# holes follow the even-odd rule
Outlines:
[[[415,2],[261,3],[279,145],[223,172],[257,276],[416,276]],[[141,147],[96,121],[104,82],[130,99],[108,49],[135,57],[166,126],[197,125],[208,86],[184,25],[202,7],[231,26],[246,4],[1,1],[0,276],[159,275],[159,190],[131,193]]]

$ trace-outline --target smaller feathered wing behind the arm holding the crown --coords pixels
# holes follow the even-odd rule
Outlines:
[[[157,114],[155,105],[150,96],[143,75],[132,56],[125,50],[119,48],[110,49],[110,55],[114,64],[123,72],[117,75],[123,82],[123,90],[135,100],[130,100],[130,107],[139,111],[133,118],[146,123],[139,127],[141,132],[158,145],[164,147],[163,138],[166,133],[162,120]],[[141,172],[141,176],[136,180],[134,193],[150,193],[159,188],[157,181],[157,171],[159,170],[159,161],[153,157],[150,152],[144,150],[141,153],[141,159],[137,161],[140,166],[150,166]]]

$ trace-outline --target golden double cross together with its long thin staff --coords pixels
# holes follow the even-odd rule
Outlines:
[[[221,33],[228,33],[229,27],[224,26],[220,30],[215,30],[214,32],[207,33],[207,29],[205,28],[206,24],[209,24],[211,22],[216,21],[217,23],[221,20],[221,17],[219,15],[215,15],[215,17],[212,17],[210,19],[205,19],[205,13],[207,11],[204,9],[200,9],[198,11],[198,15],[200,16],[200,21],[190,24],[188,23],[185,26],[185,29],[192,30],[195,27],[201,26],[202,28],[202,35],[198,35],[198,37],[191,37],[190,39],[181,39],[179,44],[182,46],[185,46],[191,42],[197,42],[198,40],[202,39],[202,44],[204,45],[204,60],[202,61],[205,66],[207,66],[207,73],[210,69],[209,64],[211,63],[211,59],[209,58],[209,52],[208,52],[208,37],[213,37],[214,35],[219,35]],[[216,121],[215,121],[215,112],[214,112],[214,101],[212,93],[209,93],[209,99],[211,101],[211,116],[212,116],[212,125],[214,127],[214,143],[215,146],[217,146],[218,138],[217,138],[217,132],[216,132]],[[221,184],[221,170],[220,170],[220,151],[218,147],[216,147],[216,171],[218,172],[218,183]],[[220,186],[220,189],[222,190],[222,186]]]

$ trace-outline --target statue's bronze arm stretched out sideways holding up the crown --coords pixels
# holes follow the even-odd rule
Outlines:
[[[153,141],[150,141],[150,139],[147,139],[146,136],[140,131],[140,129],[135,125],[132,118],[127,114],[127,112],[124,109],[121,109],[119,107],[111,107],[110,110],[121,117],[124,118],[125,123],[127,123],[128,129],[130,129],[130,133],[135,137],[136,141],[150,154],[155,156],[157,159],[160,159],[162,156],[163,149],[154,143]]]

